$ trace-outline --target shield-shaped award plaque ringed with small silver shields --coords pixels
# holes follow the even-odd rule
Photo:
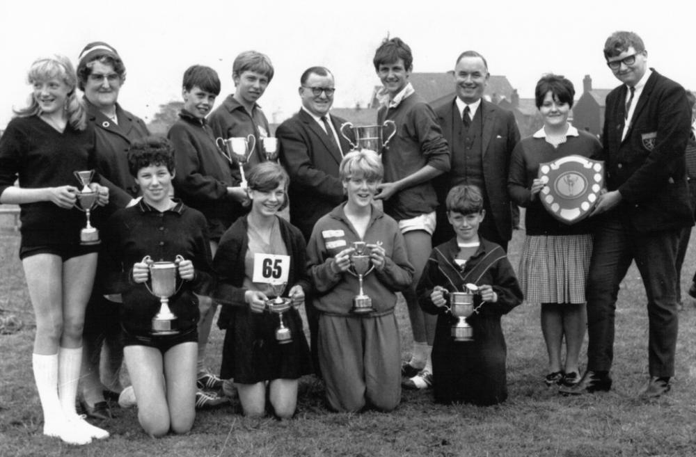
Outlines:
[[[539,179],[546,184],[539,198],[551,216],[568,225],[582,221],[604,187],[604,162],[571,155],[539,163]]]

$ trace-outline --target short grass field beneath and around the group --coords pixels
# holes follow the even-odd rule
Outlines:
[[[1,224],[0,224],[1,226]],[[510,257],[516,265],[523,233]],[[559,396],[541,382],[546,350],[539,310],[524,304],[503,319],[509,399],[500,406],[437,406],[431,392],[404,392],[395,412],[334,414],[315,378],[303,378],[296,417],[246,419],[239,405],[199,412],[188,435],[152,440],[136,410],[114,410],[108,440],[72,447],[41,435],[42,414],[31,373],[35,327],[17,259],[19,236],[0,230],[0,309],[24,321],[0,335],[0,457],[10,456],[694,456],[696,455],[696,309],[681,313],[677,378],[672,392],[639,401],[647,380],[646,299],[635,267],[619,296],[614,388],[606,394]],[[684,278],[693,273],[690,246]],[[688,284],[685,284],[688,286]],[[399,307],[404,348],[410,335]],[[214,330],[209,367],[219,368],[221,332]],[[404,353],[404,358],[406,358]],[[583,355],[583,362],[585,356]]]

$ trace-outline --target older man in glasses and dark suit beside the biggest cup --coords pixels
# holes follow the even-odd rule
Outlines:
[[[334,91],[328,69],[308,68],[300,78],[299,113],[276,130],[280,162],[290,175],[290,222],[306,240],[317,220],[344,199],[338,166],[350,145],[339,131],[345,120],[329,114]]]

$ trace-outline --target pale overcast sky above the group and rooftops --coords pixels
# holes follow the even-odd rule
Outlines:
[[[365,104],[379,83],[372,56],[389,33],[411,46],[413,71],[446,72],[466,49],[487,57],[521,97],[533,97],[539,76],[564,74],[578,97],[583,76],[595,88],[617,81],[604,63],[604,40],[615,30],[643,38],[648,63],[696,89],[696,6],[690,1],[19,1],[0,6],[0,128],[23,106],[26,70],[40,56],[73,62],[90,41],[116,47],[127,68],[119,102],[146,121],[160,104],[181,97],[189,65],[221,77],[217,102],[234,90],[232,61],[241,51],[268,54],[276,76],[260,104],[269,120],[299,107],[299,75],[312,65],[335,74],[335,106]]]

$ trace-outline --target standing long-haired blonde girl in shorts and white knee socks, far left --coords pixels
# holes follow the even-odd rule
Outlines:
[[[19,258],[36,319],[32,364],[43,433],[86,444],[109,436],[75,411],[82,327],[99,246],[80,243],[85,215],[74,208],[82,189],[73,173],[95,168],[94,131],[68,58],[35,61],[28,79],[29,106],[16,111],[0,137],[0,203],[22,207]],[[19,186],[13,185],[16,179]],[[96,183],[90,189],[106,205],[109,190]]]

